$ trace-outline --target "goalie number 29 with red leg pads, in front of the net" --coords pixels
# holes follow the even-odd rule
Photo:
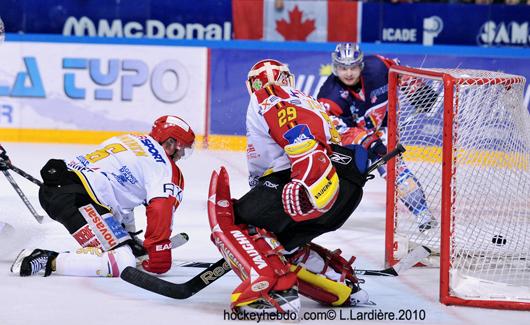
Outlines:
[[[242,283],[238,311],[295,312],[298,294],[329,306],[368,302],[349,261],[311,241],[342,226],[358,206],[367,152],[340,145],[323,106],[293,88],[276,60],[248,74],[247,161],[252,189],[230,196],[228,174],[212,175],[212,240]]]

